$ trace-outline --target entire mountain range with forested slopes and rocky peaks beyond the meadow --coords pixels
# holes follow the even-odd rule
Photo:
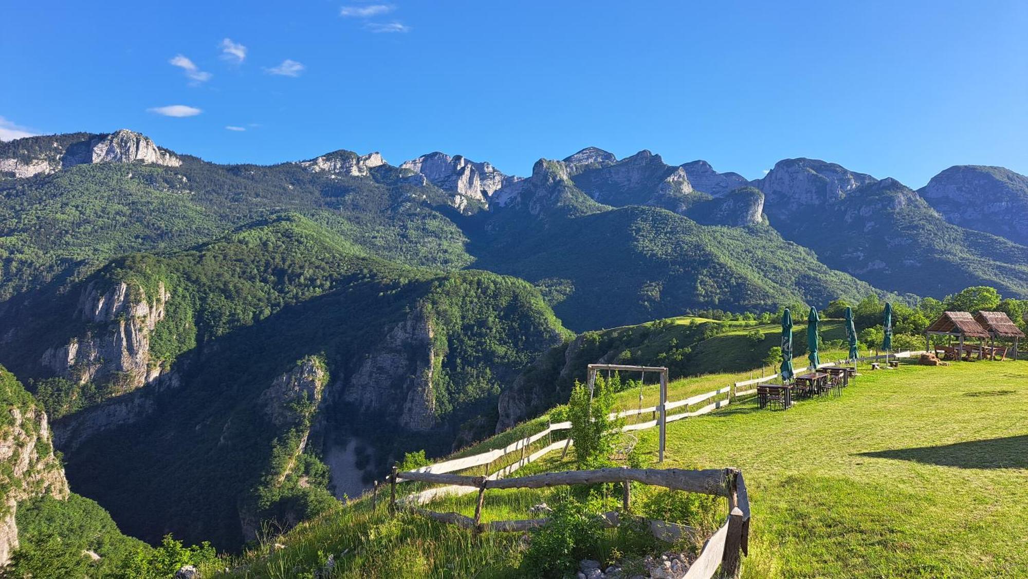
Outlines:
[[[915,191],[802,158],[747,181],[590,147],[515,177],[440,152],[221,165],[124,129],[33,137],[0,143],[0,363],[75,493],[147,541],[235,548],[406,450],[527,418],[545,385],[512,385],[575,333],[1026,298],[1026,208],[1001,167]]]

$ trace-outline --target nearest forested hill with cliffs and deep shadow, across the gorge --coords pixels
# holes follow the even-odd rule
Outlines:
[[[526,282],[370,258],[295,215],[53,292],[8,313],[36,321],[3,355],[63,415],[76,489],[133,535],[228,548],[412,439],[490,431],[501,390],[565,334]],[[364,464],[330,472],[355,435]]]

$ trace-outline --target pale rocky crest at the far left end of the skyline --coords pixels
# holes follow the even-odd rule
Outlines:
[[[109,134],[78,136],[81,141],[59,143],[50,137],[30,137],[5,144],[0,152],[0,177],[24,179],[86,163],[182,164],[174,153],[160,149],[149,137],[125,128]],[[50,144],[41,146],[47,140]]]

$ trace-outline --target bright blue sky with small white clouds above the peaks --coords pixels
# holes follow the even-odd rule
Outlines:
[[[0,0],[0,134],[126,127],[217,162],[441,150],[516,175],[586,146],[751,179],[798,156],[912,187],[1028,173],[1028,2],[778,4]]]

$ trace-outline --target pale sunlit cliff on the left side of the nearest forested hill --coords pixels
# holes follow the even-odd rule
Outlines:
[[[90,282],[75,313],[88,325],[67,344],[47,348],[40,363],[80,384],[116,381],[121,393],[153,382],[166,369],[151,359],[150,336],[164,318],[170,297],[163,283],[150,301],[142,288],[123,281],[110,287]]]

